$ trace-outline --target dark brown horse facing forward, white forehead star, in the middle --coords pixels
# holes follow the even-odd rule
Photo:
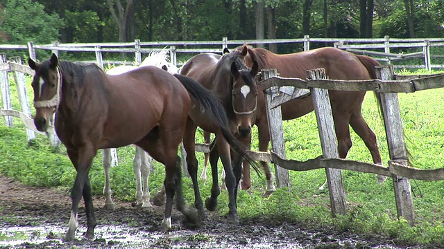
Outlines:
[[[247,49],[237,53],[228,53],[228,50],[224,52],[222,56],[202,53],[191,57],[191,59],[182,66],[180,73],[193,78],[206,89],[212,91],[227,113],[232,133],[241,138],[247,138],[250,137],[256,110],[257,86],[254,77],[257,74],[257,64],[253,62],[251,69],[244,65],[244,56],[247,54]],[[194,185],[196,208],[203,210],[203,203],[198,191],[197,160],[194,148],[196,127],[200,127],[204,131],[216,135],[213,150],[221,156],[225,171],[225,182],[230,196],[230,203],[228,204],[230,208],[230,219],[234,223],[239,223],[236,199],[237,187],[241,177],[241,160],[237,160],[239,157],[233,155],[235,163],[234,167],[232,167],[229,141],[222,136],[219,127],[215,127],[212,122],[208,121],[209,120],[203,118],[189,119],[183,140],[184,147],[187,150],[188,171]],[[235,149],[235,147],[233,148]],[[210,156],[210,163],[211,161]],[[237,167],[237,165],[239,166]],[[217,163],[212,163],[212,176],[213,185],[211,196],[205,201],[207,210],[214,210],[214,208],[216,208],[217,196],[219,196],[220,193],[217,178]]]

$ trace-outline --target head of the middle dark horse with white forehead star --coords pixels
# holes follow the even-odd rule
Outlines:
[[[237,116],[237,133],[241,137],[248,137],[251,134],[251,127],[255,122],[255,113],[257,109],[257,84],[255,76],[257,75],[257,63],[253,63],[251,68],[244,64],[244,57],[247,50],[241,50],[240,53],[231,53],[235,59],[230,65],[232,75],[232,84],[230,85],[232,95],[232,108]]]

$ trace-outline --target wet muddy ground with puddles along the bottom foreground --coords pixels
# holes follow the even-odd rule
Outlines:
[[[82,237],[86,230],[82,207],[76,241],[64,243],[71,211],[69,193],[24,187],[0,176],[0,248],[436,248],[400,245],[383,237],[312,230],[266,216],[241,219],[240,225],[232,225],[217,213],[208,214],[200,228],[187,228],[175,212],[174,231],[165,234],[160,232],[163,208],[146,212],[133,208],[131,203],[117,202],[115,210],[108,211],[102,205],[102,197],[94,197],[96,238]]]

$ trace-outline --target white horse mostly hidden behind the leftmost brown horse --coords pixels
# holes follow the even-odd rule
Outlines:
[[[177,66],[169,62],[168,50],[161,50],[159,52],[151,52],[148,57],[139,66],[157,66],[169,71],[169,73],[178,73]],[[119,75],[126,73],[137,66],[117,66],[106,71],[108,75]],[[148,178],[153,166],[153,158],[144,151],[144,149],[135,146],[135,156],[133,160],[133,169],[136,177],[136,202],[135,206],[140,208],[151,209],[153,206],[150,203],[151,195],[148,187]],[[103,149],[103,171],[105,172],[105,185],[103,187],[103,196],[105,197],[105,208],[114,209],[114,203],[111,197],[110,187],[110,167],[112,163],[112,154],[115,149]]]

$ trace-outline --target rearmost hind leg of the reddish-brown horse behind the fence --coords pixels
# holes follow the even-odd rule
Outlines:
[[[366,147],[372,155],[373,163],[382,165],[382,158],[381,154],[379,154],[376,135],[370,127],[368,127],[366,120],[364,120],[360,112],[352,113],[350,126],[366,144]],[[377,175],[377,183],[383,183],[385,180],[386,176]]]

